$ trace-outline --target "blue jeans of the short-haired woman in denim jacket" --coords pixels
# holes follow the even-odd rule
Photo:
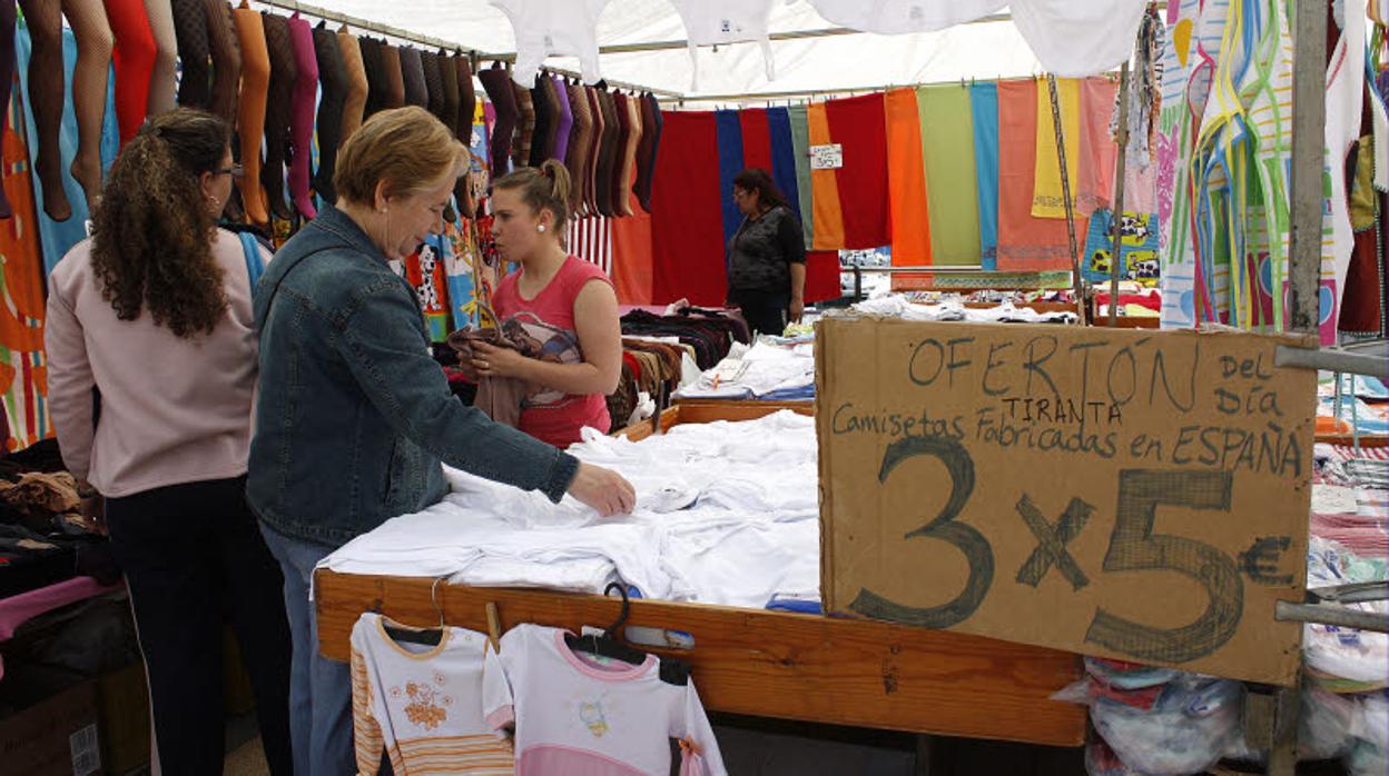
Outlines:
[[[328,776],[357,772],[351,740],[351,669],[318,654],[318,616],[310,598],[314,566],[331,548],[296,541],[261,523],[261,536],[285,575],[285,614],[293,655],[289,661],[289,737],[294,773]]]

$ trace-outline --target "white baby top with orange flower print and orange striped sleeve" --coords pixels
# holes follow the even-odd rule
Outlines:
[[[378,614],[351,629],[351,716],[357,770],[513,773],[511,747],[482,715],[483,669],[496,654],[482,633],[444,627],[435,647],[400,644]]]

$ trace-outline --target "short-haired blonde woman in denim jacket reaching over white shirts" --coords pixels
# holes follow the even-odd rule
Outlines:
[[[418,107],[367,121],[338,155],[338,205],[275,255],[256,289],[260,396],[247,497],[285,572],[294,640],[296,773],[356,769],[346,664],[318,655],[314,566],[447,493],[440,464],[601,515],[629,512],[614,472],[493,423],[449,391],[414,290],[388,265],[442,228],[467,149]]]

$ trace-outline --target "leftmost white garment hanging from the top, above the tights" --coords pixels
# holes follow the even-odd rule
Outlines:
[[[540,64],[551,54],[579,58],[586,83],[603,78],[599,69],[599,17],[608,0],[490,0],[501,8],[517,37],[511,78],[529,89]]]

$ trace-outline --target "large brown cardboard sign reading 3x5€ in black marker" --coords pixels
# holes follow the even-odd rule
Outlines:
[[[828,611],[1292,684],[1317,375],[1245,333],[826,319]]]

